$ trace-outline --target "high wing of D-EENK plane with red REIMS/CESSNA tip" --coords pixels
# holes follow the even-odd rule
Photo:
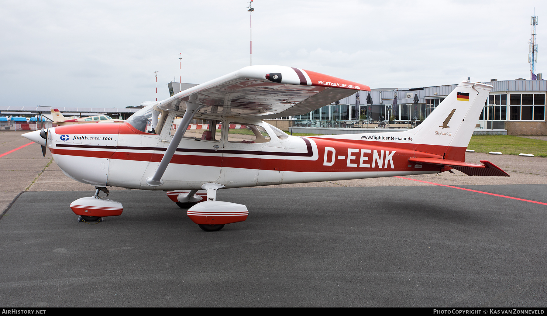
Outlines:
[[[181,91],[156,104],[161,110],[186,109],[241,118],[270,119],[304,114],[370,87],[321,73],[287,66],[248,66]]]

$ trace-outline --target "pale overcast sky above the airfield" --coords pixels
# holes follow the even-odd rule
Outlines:
[[[0,2],[0,105],[126,107],[249,65],[244,0]],[[547,2],[255,0],[253,65],[379,87],[547,76]],[[545,22],[547,23],[547,22]],[[545,30],[545,31],[544,31]]]

